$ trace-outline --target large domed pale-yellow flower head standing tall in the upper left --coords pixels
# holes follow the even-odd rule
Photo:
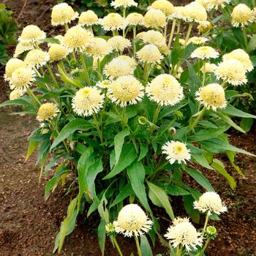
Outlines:
[[[91,33],[77,25],[67,31],[64,38],[61,40],[61,44],[72,50],[83,50],[89,45],[90,40]]]

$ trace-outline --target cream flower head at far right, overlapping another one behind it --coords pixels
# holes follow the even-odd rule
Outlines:
[[[239,86],[247,82],[246,69],[241,61],[237,59],[227,59],[222,61],[215,69],[215,75],[233,86]]]

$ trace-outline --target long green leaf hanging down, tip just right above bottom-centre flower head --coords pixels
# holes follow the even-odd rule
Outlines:
[[[148,206],[148,199],[146,196],[145,189],[145,169],[141,162],[133,162],[132,165],[127,167],[127,174],[129,181],[131,181],[132,189],[135,195],[140,200],[140,203],[146,208],[147,211],[151,212],[151,208]]]

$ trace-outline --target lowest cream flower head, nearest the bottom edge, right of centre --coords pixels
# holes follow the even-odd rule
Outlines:
[[[203,244],[201,233],[197,232],[190,222],[181,222],[177,225],[170,226],[167,229],[165,237],[170,240],[174,248],[181,245],[188,252],[195,249],[196,246],[202,246]]]

